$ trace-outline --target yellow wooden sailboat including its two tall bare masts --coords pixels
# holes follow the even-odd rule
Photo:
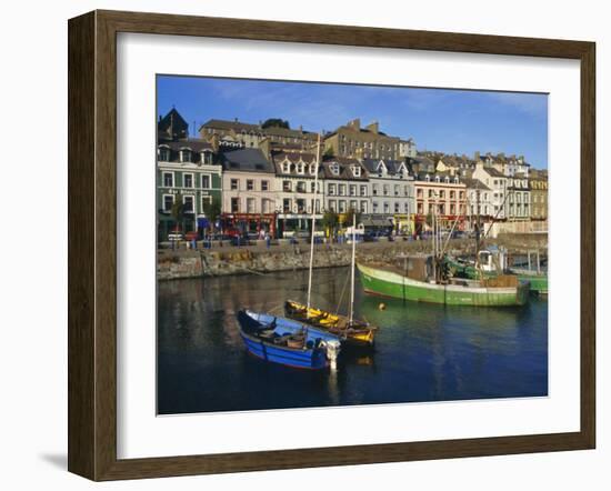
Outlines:
[[[318,194],[318,169],[320,161],[320,136],[317,149],[317,169],[314,177],[314,198],[312,200],[312,227],[310,241],[310,269],[308,274],[308,303],[302,304],[293,300],[284,303],[284,312],[290,319],[299,320],[307,324],[325,329],[327,331],[339,335],[342,340],[351,344],[372,345],[377,328],[368,322],[354,320],[354,267],[355,267],[355,247],[357,247],[357,214],[352,214],[352,261],[351,261],[351,284],[350,284],[350,313],[341,315],[332,313],[311,305],[312,294],[312,270],[314,259],[314,229],[315,229],[315,202]]]

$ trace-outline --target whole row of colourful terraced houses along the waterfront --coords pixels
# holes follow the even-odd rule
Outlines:
[[[172,109],[158,122],[157,170],[159,240],[177,226],[177,202],[184,231],[214,226],[273,236],[307,231],[312,213],[320,220],[327,211],[341,221],[355,210],[364,227],[394,233],[427,229],[431,214],[458,230],[477,220],[547,219],[547,171],[531,170],[523,157],[418,152],[412,139],[359,120],[320,138],[302,128],[210,120],[189,138]]]

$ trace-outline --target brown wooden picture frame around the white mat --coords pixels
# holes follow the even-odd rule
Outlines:
[[[151,459],[117,458],[117,33],[550,57],[581,64],[581,428],[507,435]],[[69,21],[69,455],[92,480],[592,449],[595,442],[595,46],[117,11]]]

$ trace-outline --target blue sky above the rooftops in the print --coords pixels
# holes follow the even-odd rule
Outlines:
[[[535,93],[277,82],[159,76],[158,112],[172,107],[193,136],[209,119],[258,123],[289,120],[331,131],[351,119],[380,122],[388,134],[413,138],[419,150],[523,154],[548,167],[548,97]]]

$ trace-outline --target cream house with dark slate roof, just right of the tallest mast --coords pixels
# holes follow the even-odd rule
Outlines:
[[[324,210],[339,214],[353,209],[370,212],[370,183],[368,171],[358,159],[331,157],[322,161]]]

